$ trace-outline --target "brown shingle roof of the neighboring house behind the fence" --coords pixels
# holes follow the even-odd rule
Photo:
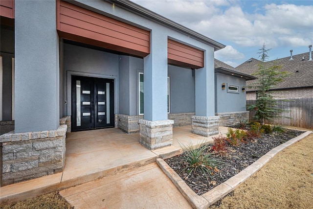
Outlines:
[[[293,89],[313,87],[313,60],[309,61],[309,52],[297,54],[290,57],[284,57],[277,60],[268,61],[268,64],[277,64],[282,66],[282,71],[290,72],[290,76],[285,78],[282,83],[279,83],[273,89]],[[303,59],[304,58],[304,59]],[[251,58],[243,64],[236,67],[236,70],[243,73],[252,74],[257,71],[258,63],[261,61]],[[298,71],[298,72],[296,72]],[[247,86],[254,81],[247,81]]]

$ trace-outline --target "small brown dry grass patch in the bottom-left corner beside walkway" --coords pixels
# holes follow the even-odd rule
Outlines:
[[[58,192],[29,198],[14,205],[0,206],[0,209],[73,209]]]

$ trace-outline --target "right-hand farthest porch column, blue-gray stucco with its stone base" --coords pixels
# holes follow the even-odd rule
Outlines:
[[[219,118],[215,116],[214,48],[204,51],[204,67],[195,70],[196,115],[192,116],[192,133],[204,137],[218,134]]]

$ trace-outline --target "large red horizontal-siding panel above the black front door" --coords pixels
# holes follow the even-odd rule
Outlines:
[[[57,1],[57,30],[72,41],[140,57],[150,53],[150,31],[65,1]]]

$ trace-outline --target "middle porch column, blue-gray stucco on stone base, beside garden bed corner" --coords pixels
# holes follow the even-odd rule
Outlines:
[[[139,120],[139,142],[148,149],[173,144],[173,120],[167,116],[167,36],[151,31],[151,52],[143,59],[144,119]]]

